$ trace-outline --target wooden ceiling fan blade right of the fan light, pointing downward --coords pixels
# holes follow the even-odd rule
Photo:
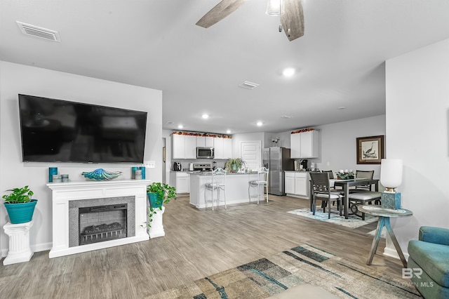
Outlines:
[[[283,31],[289,41],[304,35],[304,11],[301,0],[283,0],[284,13],[281,15]]]

